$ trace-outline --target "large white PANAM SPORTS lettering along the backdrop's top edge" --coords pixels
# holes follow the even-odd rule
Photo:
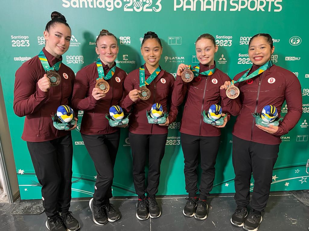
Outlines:
[[[274,11],[282,10],[282,0],[174,0],[174,11],[189,10],[189,11],[241,11],[248,9],[250,11]],[[227,9],[228,8],[228,9]]]

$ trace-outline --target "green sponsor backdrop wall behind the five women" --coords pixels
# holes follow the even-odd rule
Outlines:
[[[95,39],[108,29],[119,38],[117,65],[130,72],[143,63],[141,38],[155,31],[163,42],[160,65],[176,76],[179,63],[195,64],[194,42],[203,33],[213,34],[219,50],[215,56],[218,68],[231,78],[250,67],[247,55],[250,36],[264,32],[272,35],[275,53],[273,63],[298,76],[303,91],[303,115],[289,134],[282,136],[280,153],[273,171],[272,191],[307,189],[305,172],[308,159],[309,69],[307,45],[307,0],[55,0],[3,1],[0,7],[0,77],[16,162],[22,199],[40,198],[40,185],[33,170],[26,142],[21,140],[24,118],[13,112],[15,71],[23,62],[44,47],[43,31],[52,11],[66,16],[72,29],[69,50],[63,62],[76,73],[95,61]],[[287,105],[282,107],[282,115]],[[83,111],[79,111],[80,125]],[[161,166],[158,195],[186,194],[184,158],[180,145],[181,113],[169,126],[166,152]],[[216,164],[212,193],[234,192],[231,161],[232,118],[222,129],[221,148]],[[79,128],[79,126],[78,126]],[[91,197],[95,168],[78,129],[72,132],[73,197]],[[251,180],[251,190],[254,180]],[[113,183],[114,196],[133,196],[132,157],[126,129],[121,130]]]

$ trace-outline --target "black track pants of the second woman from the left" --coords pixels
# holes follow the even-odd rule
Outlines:
[[[96,206],[102,206],[112,197],[114,165],[120,131],[106,135],[81,135],[97,172],[93,203]]]

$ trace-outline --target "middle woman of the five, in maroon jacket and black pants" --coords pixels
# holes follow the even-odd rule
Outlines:
[[[129,140],[133,156],[133,181],[138,195],[136,217],[139,220],[161,215],[155,195],[159,187],[160,165],[165,151],[167,127],[174,122],[177,114],[177,107],[170,103],[175,79],[159,66],[162,51],[163,47],[158,35],[151,31],[147,32],[141,47],[145,63],[126,77],[124,98],[121,102],[121,107],[125,111],[131,111]],[[147,93],[143,93],[145,91]],[[163,111],[168,113],[167,120],[163,124],[148,123],[146,110],[149,111],[154,103],[161,104]],[[149,171],[146,188],[147,157],[149,157]],[[146,194],[147,197],[145,197]]]

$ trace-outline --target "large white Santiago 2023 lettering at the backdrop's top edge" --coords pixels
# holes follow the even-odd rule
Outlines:
[[[106,8],[108,11],[123,7],[123,11],[159,12],[162,10],[161,1],[162,0],[62,0],[62,6],[65,8]]]

